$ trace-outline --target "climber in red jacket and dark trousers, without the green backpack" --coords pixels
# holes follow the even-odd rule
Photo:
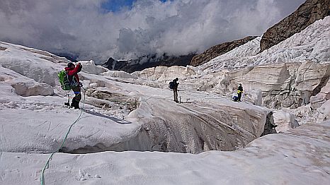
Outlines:
[[[81,64],[78,63],[76,66],[74,66],[73,63],[67,64],[67,67],[64,68],[65,71],[67,71],[67,75],[69,78],[69,82],[72,86],[72,90],[74,91],[74,98],[72,99],[71,102],[71,107],[74,107],[74,109],[79,109],[79,102],[81,100],[81,87],[82,84],[79,81],[79,76],[78,73],[81,71]]]

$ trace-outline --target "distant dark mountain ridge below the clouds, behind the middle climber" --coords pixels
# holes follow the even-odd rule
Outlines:
[[[155,54],[148,56],[141,56],[139,59],[132,59],[129,61],[116,61],[111,58],[102,64],[103,67],[110,70],[126,71],[132,73],[134,71],[142,71],[144,68],[151,68],[156,66],[187,66],[190,64],[195,54],[188,54],[183,56],[167,56],[164,54],[157,57]]]

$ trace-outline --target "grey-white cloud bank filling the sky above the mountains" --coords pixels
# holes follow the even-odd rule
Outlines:
[[[1,0],[0,40],[106,60],[149,53],[188,54],[261,35],[303,0],[137,0],[113,13],[102,2]]]

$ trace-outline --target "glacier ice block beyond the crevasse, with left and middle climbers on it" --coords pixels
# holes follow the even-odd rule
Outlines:
[[[1,47],[6,48],[0,52],[1,151],[57,150],[79,115],[78,110],[64,107],[68,92],[60,90],[57,82],[65,59],[50,61],[43,59],[45,53],[4,42]],[[114,73],[93,61],[81,64],[86,88],[81,106],[83,102],[86,106],[64,152],[235,150],[261,136],[270,113],[249,102],[191,92],[190,85],[181,85],[183,104],[177,104],[166,83]]]

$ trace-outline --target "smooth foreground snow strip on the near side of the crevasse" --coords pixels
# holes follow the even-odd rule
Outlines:
[[[330,122],[306,124],[234,152],[56,154],[45,184],[329,184],[329,131]],[[40,184],[47,157],[0,153],[0,183]]]

